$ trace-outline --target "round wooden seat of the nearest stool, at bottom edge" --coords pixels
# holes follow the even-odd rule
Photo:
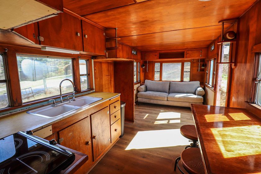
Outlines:
[[[190,174],[205,174],[199,148],[188,148],[181,153],[181,164]]]

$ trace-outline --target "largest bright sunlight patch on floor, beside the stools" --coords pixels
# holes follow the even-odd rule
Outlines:
[[[190,144],[180,129],[139,131],[125,150],[172,147]]]

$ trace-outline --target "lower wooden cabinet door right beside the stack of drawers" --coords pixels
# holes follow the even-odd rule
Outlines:
[[[109,107],[91,115],[94,161],[111,143]]]

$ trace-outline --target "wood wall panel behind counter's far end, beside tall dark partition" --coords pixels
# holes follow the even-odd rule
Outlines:
[[[94,86],[96,92],[114,92],[114,63],[94,61]]]

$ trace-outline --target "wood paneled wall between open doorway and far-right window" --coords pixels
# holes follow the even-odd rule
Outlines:
[[[230,107],[245,108],[250,101],[254,57],[252,46],[261,43],[261,1],[257,2],[239,20],[236,67],[232,70]]]

